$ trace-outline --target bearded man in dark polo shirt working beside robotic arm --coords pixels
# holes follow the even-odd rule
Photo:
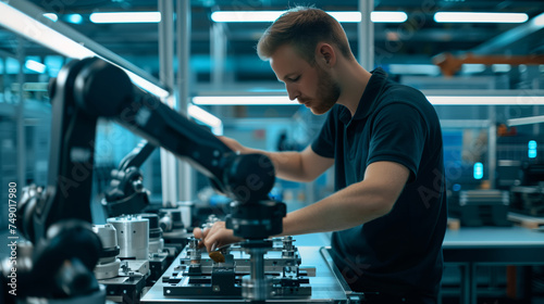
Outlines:
[[[311,181],[335,165],[332,195],[292,212],[282,236],[335,231],[335,264],[369,303],[435,303],[442,278],[446,195],[442,134],[433,106],[418,90],[367,72],[338,22],[296,8],[258,43],[290,100],[329,112],[302,152],[264,152],[222,140],[240,153],[263,153],[280,178]],[[224,223],[195,230],[210,251],[238,241]]]

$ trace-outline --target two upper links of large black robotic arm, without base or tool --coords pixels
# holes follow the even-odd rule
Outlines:
[[[267,156],[236,154],[209,130],[135,87],[125,72],[106,61],[72,61],[60,71],[50,92],[54,121],[49,185],[44,197],[26,208],[29,225],[24,232],[30,240],[63,218],[91,221],[89,198],[99,117],[114,119],[188,162],[218,191],[240,204],[268,200],[275,177]]]

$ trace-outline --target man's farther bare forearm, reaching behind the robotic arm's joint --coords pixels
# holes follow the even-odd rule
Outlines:
[[[244,147],[232,138],[220,137],[220,139],[228,148],[243,154],[260,153],[267,155],[274,164],[276,176],[286,180],[312,181],[334,164],[334,159],[316,154],[310,145],[302,152],[267,152]]]

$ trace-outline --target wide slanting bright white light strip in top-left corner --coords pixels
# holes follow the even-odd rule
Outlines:
[[[67,58],[84,59],[96,55],[84,46],[1,1],[0,24]]]

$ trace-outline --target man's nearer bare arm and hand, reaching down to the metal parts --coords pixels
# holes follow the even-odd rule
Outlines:
[[[408,180],[409,170],[394,162],[375,162],[367,167],[364,180],[354,183],[307,207],[287,214],[280,236],[348,229],[386,215],[393,208]],[[239,241],[233,230],[219,221],[206,232],[195,229],[203,245],[223,245]]]

